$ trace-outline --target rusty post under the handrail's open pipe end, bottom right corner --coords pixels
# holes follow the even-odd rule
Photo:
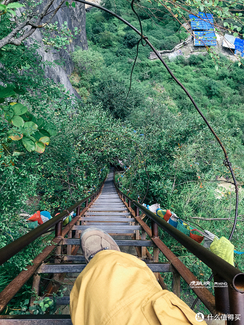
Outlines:
[[[234,320],[231,321],[231,324],[243,325],[244,324],[244,319],[243,319],[244,293],[232,289],[230,285],[228,285],[228,292],[229,292],[230,314],[234,315]],[[235,317],[236,315],[238,315],[240,319],[237,319],[237,317]]]

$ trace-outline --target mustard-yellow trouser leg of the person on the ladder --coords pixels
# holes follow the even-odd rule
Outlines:
[[[97,253],[76,279],[70,314],[73,325],[199,324],[142,260],[112,250]]]

